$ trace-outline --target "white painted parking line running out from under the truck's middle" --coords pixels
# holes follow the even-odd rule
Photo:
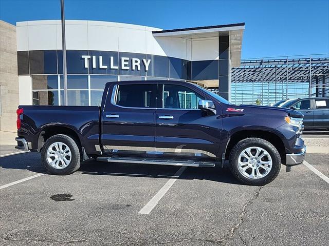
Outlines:
[[[152,209],[154,209],[154,207],[158,204],[161,198],[167,193],[167,191],[169,191],[170,187],[172,187],[177,178],[186,170],[186,168],[187,167],[181,167],[138,213],[149,214]]]

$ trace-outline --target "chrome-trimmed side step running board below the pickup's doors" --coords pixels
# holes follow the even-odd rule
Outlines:
[[[141,163],[154,165],[171,165],[171,166],[186,166],[186,167],[215,167],[214,162],[207,161],[192,161],[192,160],[166,160],[154,158],[132,158],[132,157],[97,157],[98,161],[105,162],[124,162],[124,163]]]

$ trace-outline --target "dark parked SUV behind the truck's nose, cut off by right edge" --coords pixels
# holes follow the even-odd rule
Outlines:
[[[329,97],[298,98],[281,107],[301,112],[304,115],[305,129],[329,130]]]

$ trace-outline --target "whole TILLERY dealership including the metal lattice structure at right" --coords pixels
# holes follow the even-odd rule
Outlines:
[[[66,20],[68,105],[99,105],[117,80],[190,81],[236,104],[329,93],[328,55],[241,60],[244,28]],[[60,20],[0,20],[0,130],[15,130],[17,105],[64,105],[61,33]]]

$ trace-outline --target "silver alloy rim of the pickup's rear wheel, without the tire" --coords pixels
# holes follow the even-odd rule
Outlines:
[[[71,162],[71,159],[71,150],[63,142],[54,142],[47,149],[47,160],[53,168],[66,168]]]

